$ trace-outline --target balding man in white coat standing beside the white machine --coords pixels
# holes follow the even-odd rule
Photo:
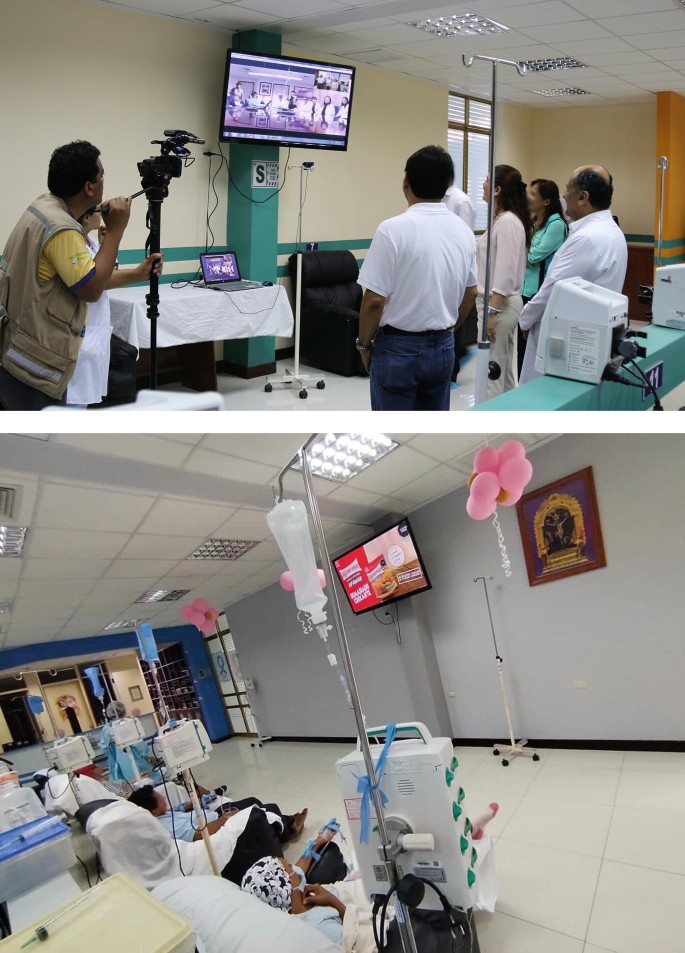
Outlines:
[[[540,322],[555,282],[584,278],[611,291],[623,290],[628,246],[611,215],[613,192],[613,179],[601,165],[584,165],[571,174],[564,193],[566,214],[571,219],[568,238],[554,256],[540,290],[519,318],[521,330],[528,331],[519,384],[541,376],[535,370],[535,355]]]

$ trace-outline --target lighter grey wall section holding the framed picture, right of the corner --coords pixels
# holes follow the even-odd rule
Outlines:
[[[504,722],[482,583],[489,583],[518,729],[533,738],[685,738],[685,438],[571,435],[531,457],[530,488],[591,465],[607,567],[528,585],[514,509],[500,507],[506,579],[490,521],[462,489],[412,514],[434,590],[421,600],[456,737]],[[418,607],[419,602],[416,600]],[[572,687],[585,680],[587,689]]]

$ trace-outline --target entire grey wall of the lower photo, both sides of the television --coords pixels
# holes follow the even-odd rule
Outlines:
[[[434,733],[504,740],[485,598],[473,582],[486,575],[520,734],[685,738],[685,438],[570,435],[531,459],[531,489],[593,467],[607,567],[531,588],[515,509],[500,507],[509,579],[491,523],[466,515],[465,488],[415,511],[433,589],[398,603],[402,646],[392,626],[343,605],[368,723],[416,719]],[[292,594],[273,586],[226,614],[258,683],[263,728],[356,733],[322,643],[299,629]],[[587,688],[574,689],[577,680]]]

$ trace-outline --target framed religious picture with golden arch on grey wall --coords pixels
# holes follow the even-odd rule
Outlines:
[[[516,513],[531,586],[606,566],[592,467],[526,493]]]

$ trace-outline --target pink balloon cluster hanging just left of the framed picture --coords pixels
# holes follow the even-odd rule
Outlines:
[[[471,519],[486,520],[498,503],[513,506],[532,476],[533,465],[526,459],[526,448],[520,440],[508,440],[499,449],[483,447],[473,458],[466,512]]]

